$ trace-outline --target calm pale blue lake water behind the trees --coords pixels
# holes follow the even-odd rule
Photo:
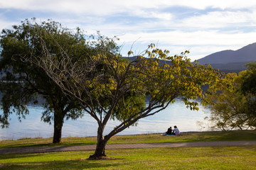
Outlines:
[[[43,108],[30,107],[30,114],[21,123],[16,115],[11,115],[9,128],[0,129],[0,140],[17,140],[24,137],[53,137],[53,125],[41,122]],[[170,126],[177,125],[181,132],[209,130],[202,128],[206,116],[210,115],[208,108],[199,106],[199,111],[186,108],[183,101],[176,100],[164,111],[139,120],[137,126],[132,126],[117,135],[136,135],[146,133],[166,132]],[[201,122],[201,125],[198,124]],[[105,128],[105,134],[110,132],[118,121],[110,120]],[[203,123],[203,124],[202,124]],[[97,122],[85,114],[77,120],[65,120],[62,137],[88,137],[97,135]]]

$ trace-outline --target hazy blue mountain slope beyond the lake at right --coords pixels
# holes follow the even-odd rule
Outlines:
[[[245,64],[256,61],[256,42],[239,50],[223,50],[198,60],[200,64],[210,64],[213,68],[225,72],[240,72]]]

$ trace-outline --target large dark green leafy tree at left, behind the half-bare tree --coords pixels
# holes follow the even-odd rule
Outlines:
[[[47,21],[36,23],[36,18],[31,21],[26,19],[21,22],[21,26],[13,26],[13,30],[3,30],[1,33],[1,62],[2,71],[1,91],[4,93],[1,99],[1,106],[4,111],[0,115],[2,128],[8,127],[9,115],[16,112],[19,120],[26,118],[28,114],[27,105],[37,103],[38,97],[42,97],[46,111],[42,114],[42,120],[54,123],[53,142],[60,142],[61,129],[64,119],[76,119],[82,116],[81,107],[78,101],[71,101],[70,96],[63,94],[59,86],[49,79],[47,72],[26,60],[26,57],[43,59],[44,52],[49,52],[56,61],[55,67],[69,69],[68,62],[76,62],[78,67],[88,67],[88,60],[92,55],[101,53],[102,55],[119,55],[119,47],[114,39],[100,35],[86,36],[80,28],[70,30],[63,28],[60,23]],[[65,60],[68,56],[70,61]],[[65,60],[62,64],[62,60]],[[53,64],[50,60],[45,60],[47,64]],[[122,60],[122,62],[126,62]],[[88,62],[89,64],[92,64]],[[104,72],[104,65],[98,64],[95,72],[90,72],[87,77]],[[78,73],[78,72],[77,72]],[[78,73],[79,74],[79,73]],[[82,75],[82,74],[81,74]],[[63,77],[62,73],[58,76]],[[83,82],[86,83],[86,82]],[[93,86],[93,84],[90,84]],[[129,100],[129,95],[124,100]],[[39,98],[40,99],[40,98]],[[106,98],[102,98],[105,103]],[[129,101],[127,101],[129,103]],[[97,103],[94,103],[97,104]],[[107,104],[107,103],[105,103]],[[143,105],[140,102],[139,105]],[[138,105],[138,106],[139,106]],[[98,111],[100,108],[97,108]]]

